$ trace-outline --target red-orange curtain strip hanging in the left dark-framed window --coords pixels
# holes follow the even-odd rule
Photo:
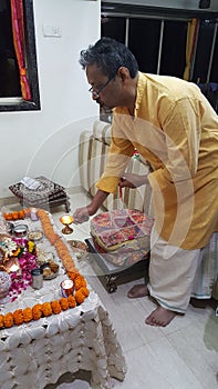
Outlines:
[[[13,44],[20,71],[20,84],[23,100],[31,100],[31,91],[27,77],[24,53],[24,23],[22,0],[11,0],[11,23]]]

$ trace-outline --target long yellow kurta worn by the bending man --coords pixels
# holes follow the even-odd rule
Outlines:
[[[199,88],[139,72],[134,118],[115,108],[106,169],[97,188],[114,192],[136,148],[152,164],[155,227],[183,249],[218,231],[218,116]]]

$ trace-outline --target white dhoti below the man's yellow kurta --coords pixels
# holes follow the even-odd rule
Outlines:
[[[185,313],[190,297],[208,299],[218,275],[218,233],[203,249],[170,246],[153,229],[148,290],[158,303]]]

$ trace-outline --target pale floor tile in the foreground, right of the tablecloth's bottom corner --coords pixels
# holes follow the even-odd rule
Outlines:
[[[166,338],[126,352],[128,371],[115,389],[203,389]]]

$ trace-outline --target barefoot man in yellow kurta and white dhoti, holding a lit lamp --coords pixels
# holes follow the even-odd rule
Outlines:
[[[158,307],[145,322],[165,327],[185,313],[191,296],[210,297],[217,276],[217,255],[208,256],[208,245],[218,231],[218,117],[197,86],[139,72],[133,53],[113,39],[81,51],[80,63],[93,99],[113,109],[113,122],[98,190],[74,219],[87,220],[117,186],[150,183],[149,283],[133,287],[128,297],[154,297]],[[135,148],[152,164],[148,176],[124,173]]]

